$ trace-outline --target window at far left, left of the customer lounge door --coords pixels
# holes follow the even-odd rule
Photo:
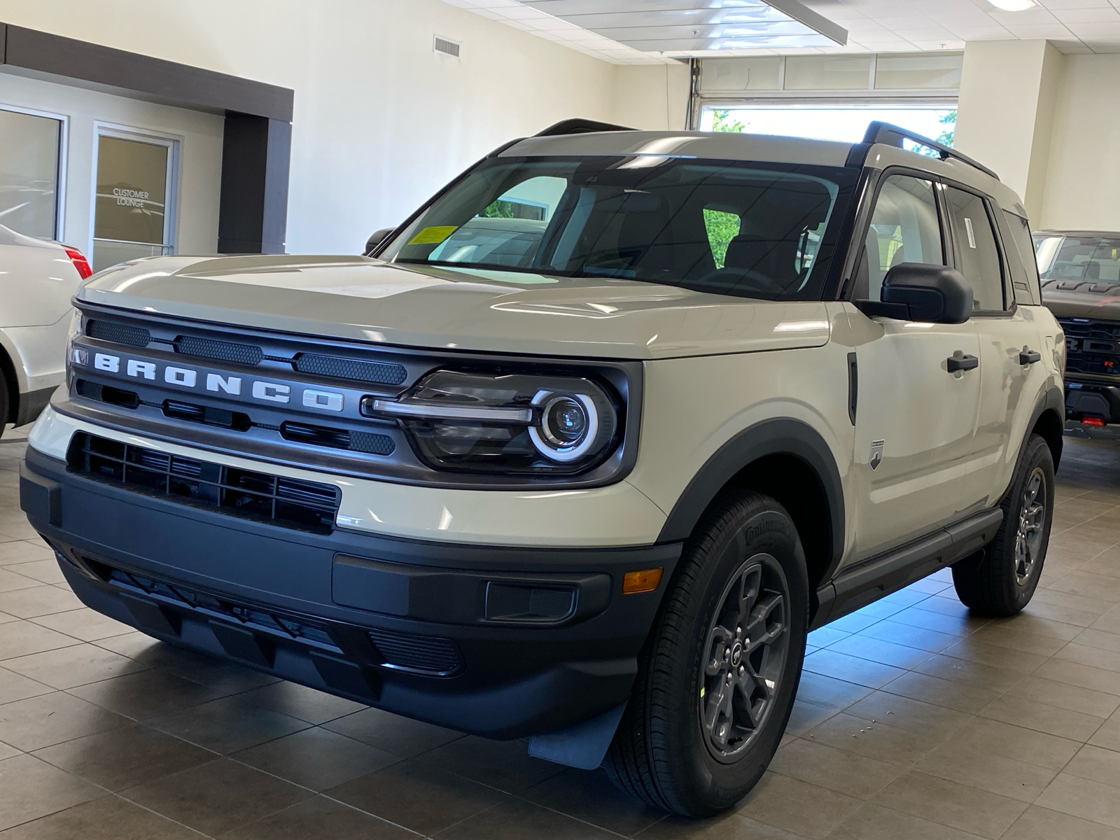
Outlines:
[[[41,239],[59,235],[62,119],[0,109],[0,225]]]

